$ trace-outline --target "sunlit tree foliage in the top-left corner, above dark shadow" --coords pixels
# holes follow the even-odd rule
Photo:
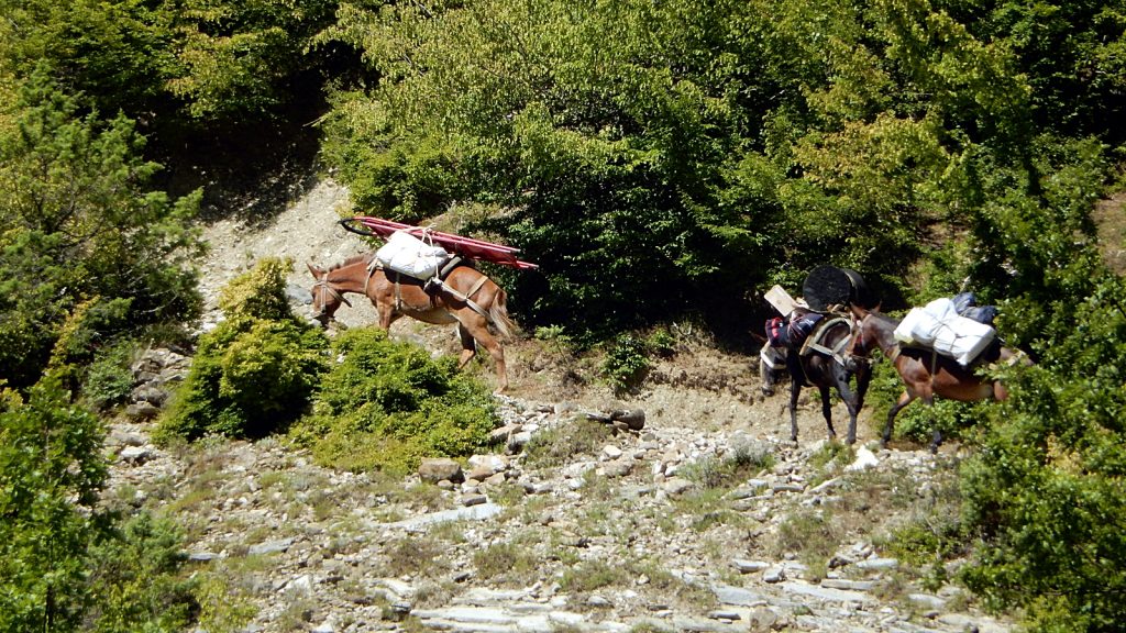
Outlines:
[[[5,1],[0,68],[46,63],[104,112],[230,119],[292,99],[291,82],[339,61],[310,47],[337,2]],[[184,108],[182,114],[178,108]]]

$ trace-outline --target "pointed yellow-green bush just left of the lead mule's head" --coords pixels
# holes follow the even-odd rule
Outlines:
[[[200,337],[191,372],[161,420],[163,439],[262,437],[309,407],[328,367],[328,340],[289,312],[286,267],[263,259],[224,288],[226,321]]]

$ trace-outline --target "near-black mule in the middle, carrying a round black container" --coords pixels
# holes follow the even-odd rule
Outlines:
[[[872,380],[872,367],[866,358],[852,358],[851,323],[838,316],[828,316],[823,324],[810,333],[802,350],[787,350],[786,368],[789,372],[789,439],[797,442],[797,396],[803,386],[815,386],[821,393],[821,414],[829,427],[829,438],[835,438],[830,396],[835,387],[848,409],[849,422],[846,442],[856,442],[856,417],[864,407],[864,395]],[[849,380],[856,375],[856,392]]]

